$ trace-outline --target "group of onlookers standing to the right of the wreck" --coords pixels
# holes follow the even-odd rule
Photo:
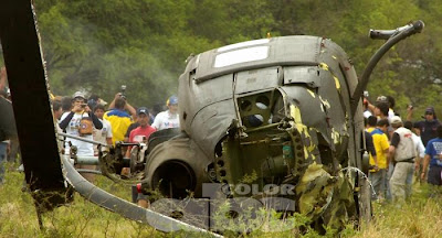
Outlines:
[[[434,108],[428,107],[423,120],[412,122],[413,107],[402,120],[390,96],[380,96],[375,104],[365,98],[364,106],[372,199],[404,201],[413,181],[442,185],[442,125]]]

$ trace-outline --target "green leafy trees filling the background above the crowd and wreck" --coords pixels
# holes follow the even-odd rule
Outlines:
[[[368,29],[392,29],[421,19],[424,32],[392,48],[371,75],[371,99],[391,95],[397,111],[438,106],[442,3],[423,0],[76,0],[35,2],[51,88],[86,89],[105,99],[127,85],[135,106],[162,104],[177,93],[185,60],[213,47],[290,34],[330,37],[361,75],[382,42]]]

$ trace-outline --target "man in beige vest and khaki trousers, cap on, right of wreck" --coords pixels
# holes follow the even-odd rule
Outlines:
[[[391,118],[391,127],[394,129],[390,142],[390,161],[396,163],[390,178],[390,188],[393,201],[406,199],[411,195],[411,180],[414,172],[414,158],[418,155],[412,132],[402,127],[400,117]],[[409,180],[407,180],[409,177]]]

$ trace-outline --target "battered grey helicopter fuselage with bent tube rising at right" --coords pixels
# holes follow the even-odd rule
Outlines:
[[[388,41],[360,79],[344,50],[317,36],[242,42],[189,58],[179,77],[180,132],[149,144],[145,185],[175,198],[211,196],[204,183],[222,184],[230,197],[290,197],[293,212],[319,227],[369,219],[359,99],[387,50],[422,28],[371,31]]]

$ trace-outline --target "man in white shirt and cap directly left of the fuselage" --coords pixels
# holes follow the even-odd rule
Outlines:
[[[176,96],[171,96],[167,100],[167,107],[169,108],[168,110],[161,111],[157,115],[157,117],[155,117],[152,127],[157,130],[179,128],[178,98]]]

